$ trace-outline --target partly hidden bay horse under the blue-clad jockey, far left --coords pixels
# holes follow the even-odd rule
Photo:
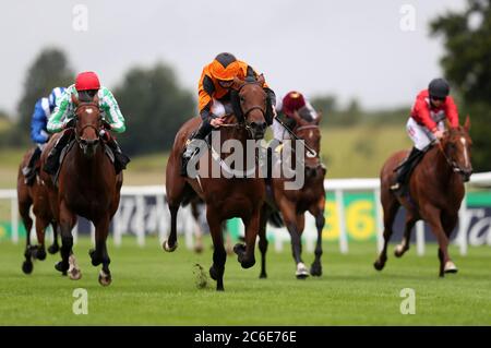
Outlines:
[[[22,168],[27,165],[34,151],[35,147],[28,149],[25,153],[17,172],[19,214],[21,215],[26,232],[26,244],[24,251],[25,261],[22,264],[22,271],[25,274],[31,274],[33,272],[33,260],[36,259],[43,261],[46,259],[45,231],[49,225],[51,225],[52,228],[53,242],[48,248],[48,252],[50,254],[56,254],[60,250],[60,247],[58,244],[58,224],[55,219],[55,215],[49,204],[48,189],[40,181],[37,173],[32,185],[28,185],[25,182],[25,177],[22,173]],[[34,165],[36,172],[39,172],[39,166],[40,160],[37,160]],[[33,218],[29,214],[31,207],[33,207],[33,213],[35,216],[35,228],[38,242],[37,245],[31,244],[31,229],[33,227]]]

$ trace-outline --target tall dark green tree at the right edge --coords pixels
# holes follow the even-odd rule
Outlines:
[[[491,170],[491,0],[468,0],[462,13],[448,12],[434,19],[431,32],[443,36],[442,67],[462,95],[462,113],[468,112],[471,118],[474,168]]]

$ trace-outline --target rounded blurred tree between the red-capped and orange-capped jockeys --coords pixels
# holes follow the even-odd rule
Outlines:
[[[197,115],[192,94],[163,63],[131,69],[113,92],[127,120],[120,143],[132,155],[169,149],[182,123]]]

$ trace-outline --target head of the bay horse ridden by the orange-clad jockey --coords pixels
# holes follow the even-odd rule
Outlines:
[[[233,113],[251,131],[254,140],[263,139],[267,127],[267,96],[263,84],[264,76],[260,75],[258,80],[235,77],[231,86]]]

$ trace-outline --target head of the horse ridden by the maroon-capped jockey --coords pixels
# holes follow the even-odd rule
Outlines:
[[[322,115],[313,122],[308,122],[298,118],[297,125],[294,130],[295,134],[306,142],[304,149],[304,166],[306,177],[315,177],[318,169],[322,167],[320,152],[321,152],[321,129],[319,127]],[[314,153],[312,153],[313,151]]]

